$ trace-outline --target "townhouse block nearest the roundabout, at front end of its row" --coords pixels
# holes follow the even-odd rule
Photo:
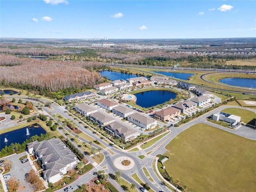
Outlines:
[[[138,131],[130,125],[118,121],[112,122],[104,129],[117,138],[123,138],[124,142],[134,140],[138,137]]]

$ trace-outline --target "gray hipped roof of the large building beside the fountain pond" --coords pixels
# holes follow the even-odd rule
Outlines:
[[[34,150],[39,156],[42,156],[42,160],[47,162],[44,174],[48,178],[62,174],[61,168],[66,167],[68,164],[76,161],[76,155],[66,147],[66,144],[60,140],[60,138],[52,138],[50,140],[44,140],[42,142],[32,142],[28,144],[28,147],[34,147]]]

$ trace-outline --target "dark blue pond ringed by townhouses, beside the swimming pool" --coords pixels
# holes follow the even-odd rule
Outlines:
[[[137,97],[136,104],[148,108],[176,98],[177,94],[168,90],[151,90],[134,94]]]

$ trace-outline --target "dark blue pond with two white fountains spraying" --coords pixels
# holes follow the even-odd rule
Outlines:
[[[29,135],[27,135],[27,128]],[[32,127],[26,126],[21,129],[0,134],[0,150],[5,148],[5,146],[9,146],[11,143],[22,144],[24,141],[26,141],[26,139],[30,139],[30,137],[34,135],[40,136],[41,133],[46,134],[46,131],[40,125],[33,124]],[[4,142],[5,138],[8,140],[7,142]]]

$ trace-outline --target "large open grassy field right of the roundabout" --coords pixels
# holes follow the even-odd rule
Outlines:
[[[190,192],[256,191],[256,141],[196,124],[166,149],[166,170]]]

